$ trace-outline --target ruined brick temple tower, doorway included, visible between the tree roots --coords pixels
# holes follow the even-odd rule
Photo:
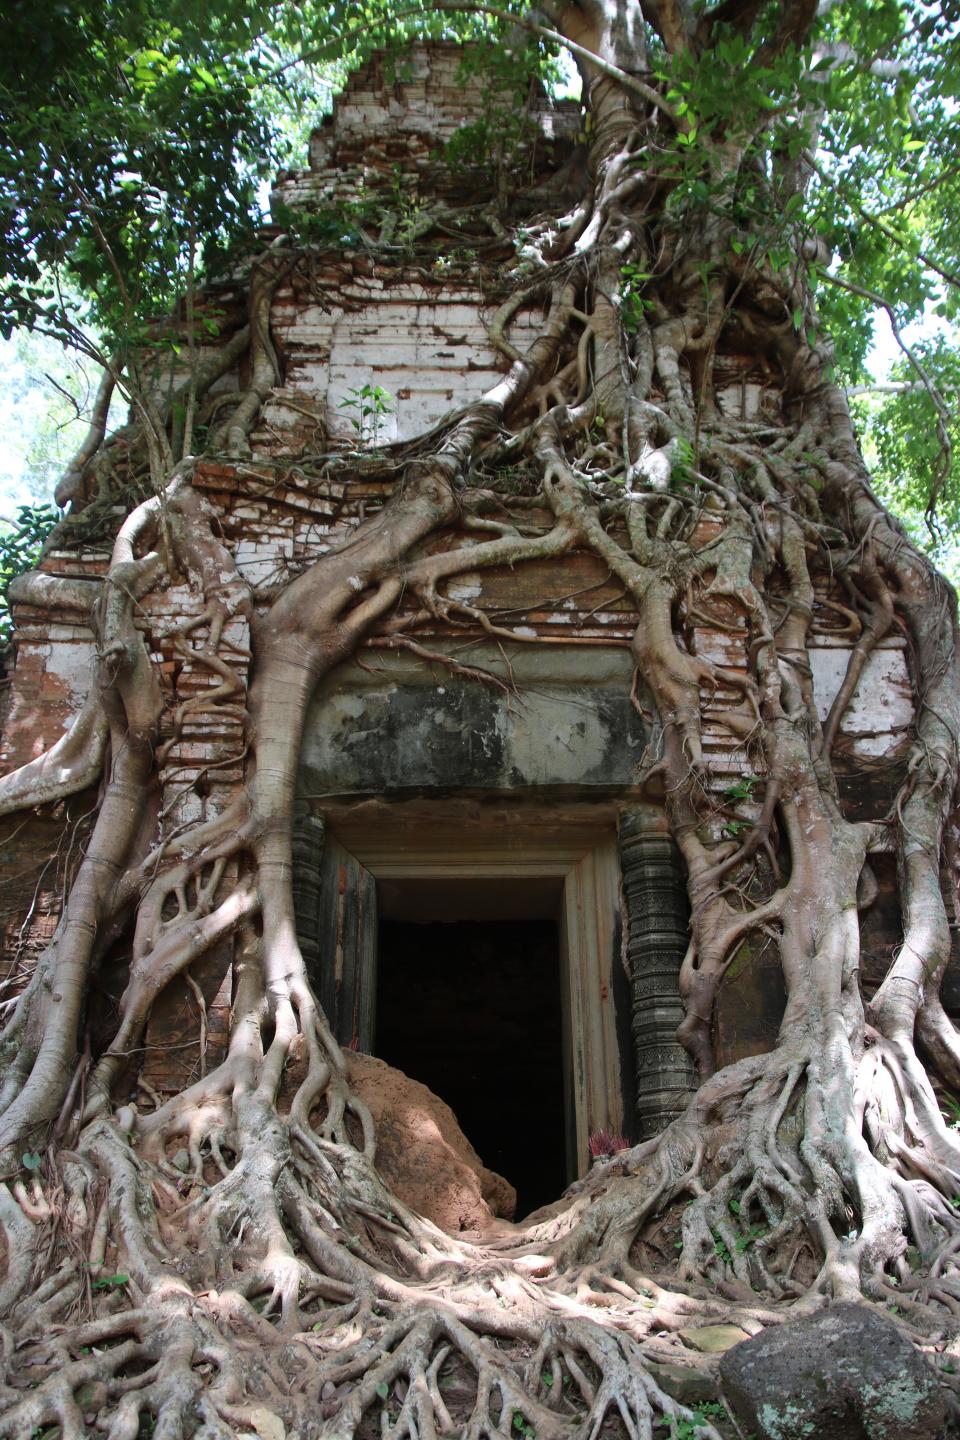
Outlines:
[[[196,475],[263,611],[278,582],[343,544],[390,494],[389,482],[364,474],[361,446],[389,448],[440,423],[510,364],[497,320],[511,297],[505,251],[489,228],[471,240],[466,222],[455,236],[448,226],[455,207],[494,213],[498,203],[497,164],[475,160],[471,138],[497,125],[497,96],[462,66],[462,50],[443,43],[419,45],[396,63],[374,56],[314,131],[307,168],[275,186],[266,242],[294,230],[312,245],[309,265],[281,281],[265,320],[279,380],[249,455],[204,459]],[[527,96],[502,158],[514,173],[524,167],[521,203],[533,209],[540,187],[561,184],[564,167],[583,163],[579,132],[577,104]],[[384,210],[391,238],[374,253],[366,228]],[[207,359],[229,356],[246,321],[240,291],[240,281],[220,281],[203,294],[216,321]],[[511,314],[514,346],[538,315],[535,294]],[[718,356],[717,374],[721,408],[777,425],[779,395],[748,356]],[[225,360],[210,392],[212,428],[248,379]],[[332,480],[324,455],[351,449],[350,478]],[[81,513],[94,492],[60,498]],[[550,527],[522,467],[514,492],[499,498],[522,533]],[[117,523],[122,514],[121,505]],[[497,521],[478,530],[484,524]],[[717,533],[705,508],[691,544],[710,546]],[[45,554],[45,573],[92,582],[78,588],[75,611],[50,621],[30,606],[29,589],[17,592],[4,770],[43,753],[94,683],[82,596],[95,595],[111,539],[107,524],[79,547]],[[340,1041],[440,1094],[484,1162],[514,1184],[543,1174],[530,1208],[583,1174],[592,1135],[652,1135],[692,1092],[675,1038],[687,894],[664,795],[656,779],[642,779],[653,716],[643,677],[632,674],[636,612],[603,563],[577,552],[468,572],[443,600],[429,615],[404,598],[389,632],[314,698],[295,821],[298,929]],[[144,798],[144,822],[160,835],[222,812],[248,763],[229,690],[230,672],[248,677],[249,626],[230,622],[227,674],[214,672],[184,642],[200,609],[186,585],[140,602],[166,687],[167,749],[160,785]],[[733,611],[724,628],[694,618],[687,644],[727,671],[746,670]],[[810,655],[822,717],[851,645],[842,596],[825,582]],[[907,667],[892,634],[869,657],[843,719],[841,775],[845,756],[871,765],[869,785],[843,796],[851,815],[885,814],[902,775],[914,719]],[[735,832],[756,805],[756,753],[721,721],[737,698],[723,687],[701,696],[717,832]],[[91,808],[88,793],[56,814],[0,822],[6,963],[17,984],[56,924]],[[884,867],[881,857],[879,899],[864,922],[866,989],[898,936],[892,863]],[[102,962],[102,1017],[117,1005],[128,943],[117,936]],[[216,946],[155,1007],[145,1048],[131,1060],[131,1093],[144,1104],[222,1056],[235,963],[235,940]],[[959,998],[951,972],[944,999],[956,1008]],[[717,1063],[770,1048],[783,1004],[779,963],[766,942],[751,940],[720,992]],[[89,1017],[94,1032],[102,1017]]]

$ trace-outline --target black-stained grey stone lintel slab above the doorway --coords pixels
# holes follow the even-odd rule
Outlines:
[[[507,688],[390,652],[335,671],[307,719],[304,796],[636,785],[646,737],[628,651],[518,645],[507,667],[486,645],[463,660]]]

